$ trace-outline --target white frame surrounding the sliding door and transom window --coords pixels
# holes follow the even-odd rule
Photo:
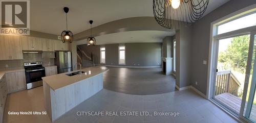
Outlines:
[[[210,43],[209,43],[209,58],[208,58],[208,73],[207,73],[207,93],[206,93],[206,99],[208,99],[209,101],[211,101],[212,103],[214,103],[215,105],[217,105],[219,108],[221,108],[222,110],[224,110],[227,114],[229,114],[231,117],[238,119],[241,121],[244,120],[246,122],[250,122],[248,119],[246,119],[245,117],[241,116],[240,113],[240,117],[237,117],[236,114],[233,114],[231,112],[228,111],[228,109],[223,108],[222,106],[220,106],[219,104],[217,104],[215,101],[211,100],[212,97],[212,92],[214,91],[214,88],[212,86],[214,86],[214,81],[215,81],[215,76],[214,72],[216,70],[216,64],[217,63],[216,60],[216,45],[217,44],[217,40],[219,39],[223,39],[223,38],[228,38],[228,37],[232,37],[232,36],[238,36],[238,35],[243,35],[243,34],[248,34],[254,30],[256,30],[256,26],[252,26],[252,27],[247,27],[247,28],[243,28],[243,29],[238,29],[238,30],[234,30],[234,31],[230,31],[227,33],[223,33],[223,34],[219,34],[218,35],[218,26],[224,23],[227,23],[229,21],[232,21],[234,19],[237,18],[241,18],[243,16],[246,16],[248,14],[252,14],[256,12],[256,4],[248,6],[246,8],[243,8],[241,10],[238,10],[236,12],[233,12],[225,17],[222,17],[214,22],[211,22],[210,24]],[[247,91],[247,89],[244,89],[244,91]],[[245,98],[244,98],[245,99]],[[245,100],[242,102],[245,102]],[[244,110],[244,106],[241,106],[242,110],[240,112],[243,112]],[[241,119],[240,119],[241,118]]]

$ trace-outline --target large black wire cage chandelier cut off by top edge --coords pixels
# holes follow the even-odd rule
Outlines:
[[[209,0],[153,0],[154,16],[167,29],[179,29],[200,19]]]

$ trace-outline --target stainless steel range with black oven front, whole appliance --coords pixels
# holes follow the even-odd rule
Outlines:
[[[42,62],[27,62],[24,63],[27,89],[42,86],[42,77],[46,76],[45,67]]]

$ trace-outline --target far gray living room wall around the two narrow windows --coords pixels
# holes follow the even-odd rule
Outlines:
[[[160,66],[162,57],[162,43],[125,43],[126,64],[118,64],[118,45],[106,44],[106,64],[113,66]],[[93,53],[94,63],[100,64],[100,46],[79,45],[81,50],[89,56]],[[134,65],[135,64],[135,65]]]

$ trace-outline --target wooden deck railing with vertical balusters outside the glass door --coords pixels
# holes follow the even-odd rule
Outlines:
[[[238,88],[240,86],[240,82],[236,77],[234,77],[231,70],[223,70],[217,72],[215,95],[228,92],[238,96]]]

